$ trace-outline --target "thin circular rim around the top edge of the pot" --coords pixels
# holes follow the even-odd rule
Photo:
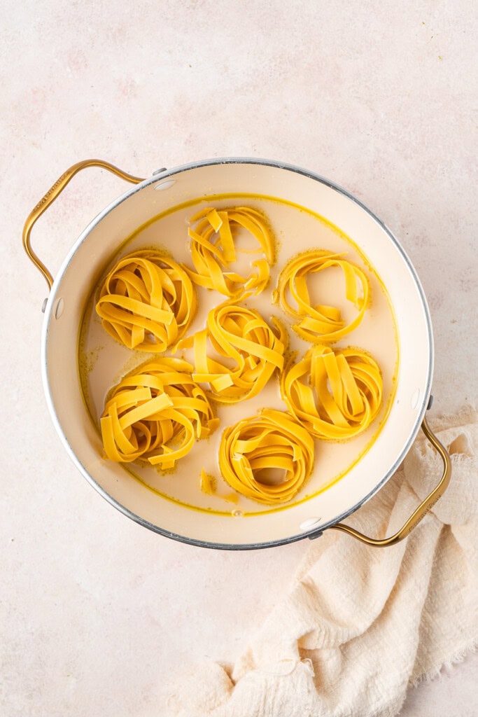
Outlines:
[[[277,538],[271,541],[264,541],[260,543],[213,543],[211,541],[202,541],[197,538],[188,538],[186,536],[181,536],[178,533],[172,533],[171,531],[166,531],[164,528],[161,528],[160,526],[153,525],[153,523],[150,523],[149,521],[146,521],[144,518],[141,518],[141,516],[136,515],[133,513],[133,511],[130,511],[129,508],[126,508],[124,505],[118,502],[118,500],[115,500],[109,493],[107,493],[95,480],[95,478],[92,477],[90,473],[88,473],[87,469],[84,465],[82,465],[82,462],[77,457],[75,452],[72,450],[72,447],[70,445],[70,442],[68,442],[67,437],[64,435],[61,422],[59,421],[59,418],[57,416],[56,409],[54,407],[54,403],[52,401],[52,394],[49,390],[49,379],[47,374],[47,342],[48,342],[48,328],[49,328],[49,322],[52,318],[53,313],[53,307],[56,304],[54,301],[57,291],[59,288],[59,285],[61,284],[62,277],[64,275],[64,272],[67,270],[68,265],[70,264],[72,257],[75,255],[75,253],[78,250],[78,247],[80,247],[80,244],[85,241],[86,237],[94,227],[99,224],[102,219],[104,219],[107,214],[110,214],[110,212],[113,212],[116,207],[118,207],[120,204],[123,203],[123,201],[126,201],[130,198],[130,196],[133,196],[138,191],[141,191],[142,189],[145,189],[145,187],[150,186],[150,184],[156,184],[158,181],[161,181],[163,179],[167,179],[170,176],[174,176],[175,174],[180,174],[183,171],[188,171],[191,169],[196,169],[202,166],[211,166],[211,165],[220,165],[220,164],[257,164],[262,166],[270,166],[277,169],[285,169],[286,171],[292,171],[296,174],[301,174],[303,176],[306,176],[314,181],[320,182],[320,184],[325,184],[325,186],[328,186],[330,189],[333,189],[335,191],[338,191],[339,194],[342,194],[347,199],[350,199],[350,201],[353,201],[354,204],[358,205],[360,209],[362,209],[364,212],[368,214],[371,219],[373,219],[374,222],[376,222],[379,227],[385,232],[386,236],[390,241],[394,244],[396,247],[396,250],[398,250],[398,253],[401,255],[401,258],[403,262],[405,262],[406,267],[408,268],[408,271],[411,274],[411,277],[414,280],[414,284],[416,285],[416,289],[419,292],[419,296],[421,299],[421,305],[424,310],[424,316],[426,320],[426,330],[427,330],[427,338],[428,338],[428,344],[429,344],[429,362],[427,366],[427,372],[426,372],[426,386],[424,387],[424,397],[423,401],[421,403],[421,409],[419,411],[419,414],[416,417],[416,423],[414,424],[414,427],[411,429],[410,435],[408,436],[408,440],[405,442],[405,444],[402,446],[400,452],[398,453],[395,462],[393,462],[393,465],[390,467],[390,469],[386,472],[385,475],[381,478],[381,480],[376,483],[374,488],[367,494],[365,497],[363,497],[361,500],[359,500],[357,503],[355,503],[352,507],[347,508],[347,510],[343,511],[343,513],[340,513],[339,516],[335,516],[332,520],[323,523],[320,525],[320,527],[317,528],[317,526],[314,526],[309,531],[301,531],[300,533],[289,536],[287,538]],[[428,303],[426,302],[426,297],[424,293],[424,289],[421,285],[421,282],[419,280],[419,277],[416,273],[416,270],[414,268],[414,265],[412,264],[411,260],[408,258],[408,255],[403,250],[403,247],[401,246],[400,242],[398,242],[398,239],[394,236],[393,232],[391,232],[391,229],[389,229],[384,222],[382,222],[381,219],[377,217],[377,215],[371,211],[371,209],[368,208],[365,204],[363,204],[360,199],[357,199],[353,194],[350,194],[349,191],[346,189],[343,189],[342,186],[335,184],[335,182],[330,181],[329,179],[326,179],[320,174],[317,174],[315,172],[312,172],[310,170],[307,170],[305,168],[302,168],[300,166],[297,166],[295,164],[287,163],[287,162],[279,162],[274,161],[266,158],[254,158],[254,157],[220,157],[220,158],[210,158],[210,159],[204,159],[199,161],[193,161],[191,163],[182,164],[180,166],[173,167],[171,169],[162,169],[154,172],[150,177],[144,179],[139,184],[136,184],[135,186],[131,187],[127,191],[125,191],[124,194],[120,195],[118,198],[110,202],[105,209],[102,210],[99,214],[96,215],[94,219],[92,219],[89,224],[87,224],[87,227],[83,229],[83,231],[80,233],[79,237],[77,238],[76,242],[71,247],[70,251],[67,253],[66,257],[64,258],[64,261],[62,262],[61,267],[59,268],[59,271],[57,273],[57,276],[54,277],[54,282],[52,285],[52,290],[49,293],[49,297],[47,300],[47,305],[44,311],[44,322],[42,326],[42,340],[41,340],[41,368],[42,368],[42,383],[44,388],[44,394],[47,400],[47,407],[49,409],[50,416],[52,417],[52,422],[54,424],[55,429],[57,430],[57,433],[60,437],[60,440],[62,440],[62,443],[64,445],[65,450],[67,451],[68,455],[70,455],[70,458],[72,462],[77,467],[77,470],[82,473],[84,478],[92,485],[95,490],[97,490],[100,495],[102,495],[105,500],[107,500],[110,505],[113,505],[114,508],[116,508],[120,513],[123,513],[123,515],[127,516],[131,520],[135,521],[135,523],[138,523],[139,525],[143,526],[144,528],[148,528],[148,530],[153,531],[155,533],[159,533],[162,536],[165,536],[167,538],[171,538],[175,541],[181,542],[181,543],[187,543],[188,545],[198,546],[201,548],[209,548],[209,549],[219,549],[219,550],[257,550],[257,549],[264,549],[264,548],[272,548],[275,546],[281,546],[281,545],[287,545],[289,543],[295,543],[297,541],[303,540],[304,538],[317,538],[322,535],[322,532],[330,528],[331,526],[334,526],[335,523],[339,523],[343,520],[343,518],[347,518],[352,513],[355,513],[362,505],[368,502],[373,495],[378,493],[378,490],[380,490],[385,483],[391,478],[393,473],[396,472],[398,466],[403,461],[403,458],[407,455],[408,451],[411,448],[411,445],[414,443],[414,440],[416,438],[416,435],[419,432],[421,422],[424,419],[424,415],[426,413],[426,410],[429,409],[431,406],[431,400],[433,397],[431,397],[431,380],[433,376],[433,369],[434,369],[434,343],[433,343],[433,330],[431,326],[431,315],[429,311]],[[258,516],[260,517],[260,516]]]

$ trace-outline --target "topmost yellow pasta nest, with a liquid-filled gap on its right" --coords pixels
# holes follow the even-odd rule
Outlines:
[[[188,228],[191,239],[191,259],[196,272],[186,268],[191,280],[207,289],[238,300],[245,293],[259,294],[269,282],[269,267],[274,264],[274,239],[267,219],[257,209],[237,206],[214,209],[208,206],[191,218]],[[234,235],[246,229],[257,241],[255,250],[236,250]],[[263,254],[251,262],[252,271],[242,276],[231,271],[236,252]]]

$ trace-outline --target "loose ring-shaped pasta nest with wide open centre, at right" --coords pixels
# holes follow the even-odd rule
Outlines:
[[[292,326],[298,336],[312,343],[331,343],[345,336],[358,326],[368,305],[370,285],[368,279],[355,264],[341,258],[341,254],[312,251],[300,254],[290,261],[279,275],[274,299],[282,308],[300,322]],[[311,274],[340,267],[345,278],[345,298],[358,310],[358,315],[345,326],[340,309],[334,306],[311,305],[307,277]],[[360,290],[359,290],[360,286]],[[289,300],[294,300],[292,306]]]

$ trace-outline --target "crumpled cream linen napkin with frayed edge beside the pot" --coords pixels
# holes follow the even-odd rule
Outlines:
[[[391,717],[408,685],[476,647],[477,414],[430,424],[453,463],[433,512],[391,548],[325,531],[234,670],[207,663],[181,675],[168,715]],[[395,532],[441,471],[419,437],[348,523],[372,536]]]

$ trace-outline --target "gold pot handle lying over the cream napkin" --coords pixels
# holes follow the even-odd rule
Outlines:
[[[349,535],[353,536],[353,538],[357,538],[357,540],[361,541],[362,543],[367,543],[367,545],[377,546],[379,548],[399,543],[401,540],[403,540],[403,538],[406,538],[406,536],[408,536],[409,533],[414,530],[414,528],[416,528],[421,519],[426,516],[426,513],[428,513],[431,508],[433,508],[436,501],[439,500],[439,498],[441,498],[441,496],[444,494],[446,486],[449,484],[451,477],[451,460],[449,457],[449,453],[447,452],[446,448],[441,445],[436,435],[431,432],[429,424],[426,422],[426,419],[423,420],[421,424],[421,429],[423,430],[428,440],[431,442],[431,445],[439,452],[443,459],[443,475],[441,476],[441,480],[436,486],[436,488],[434,488],[434,490],[432,490],[431,493],[426,496],[425,500],[420,503],[419,507],[416,508],[414,513],[412,513],[410,518],[408,518],[408,521],[406,521],[403,528],[401,528],[397,533],[395,533],[395,535],[390,536],[390,538],[381,539],[369,538],[368,536],[364,536],[363,533],[355,531],[355,529],[350,528],[350,526],[344,526],[343,523],[335,523],[335,526],[330,526],[330,528],[335,528],[336,531],[343,531],[343,533],[348,533]]]

